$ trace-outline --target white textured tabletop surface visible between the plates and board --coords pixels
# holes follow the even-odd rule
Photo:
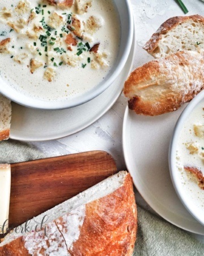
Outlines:
[[[143,54],[141,46],[143,46],[150,35],[155,32],[164,20],[174,16],[175,12],[177,15],[183,15],[183,13],[173,0],[151,0],[151,3],[147,0],[131,0],[131,2],[133,4],[136,21],[135,26],[138,31],[138,52],[137,56],[135,56],[135,65],[142,65],[145,61],[151,60],[152,57],[147,57],[146,54]],[[201,1],[188,1],[186,6],[190,10],[189,15],[196,14],[197,12],[195,10],[199,10],[198,6],[201,5],[201,3]],[[156,19],[157,22],[152,22],[155,17],[159,17]],[[89,150],[105,150],[112,154],[113,158],[116,160],[118,170],[123,170],[126,167],[122,155],[121,138],[122,119],[125,112],[125,106],[126,99],[124,96],[121,96],[107,114],[87,129],[67,138],[49,142],[35,142],[31,144],[49,156],[65,155]],[[137,201],[146,209],[151,210],[138,193]],[[203,236],[196,237],[204,242]]]

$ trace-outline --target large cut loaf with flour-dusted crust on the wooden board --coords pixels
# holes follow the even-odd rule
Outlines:
[[[5,237],[1,256],[130,256],[137,232],[131,176],[118,172],[33,218],[28,226],[23,234],[18,228]]]

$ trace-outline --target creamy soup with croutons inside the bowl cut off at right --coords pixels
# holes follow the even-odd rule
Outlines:
[[[204,212],[204,102],[186,119],[177,142],[177,180],[189,202]],[[202,216],[202,215],[200,215]]]

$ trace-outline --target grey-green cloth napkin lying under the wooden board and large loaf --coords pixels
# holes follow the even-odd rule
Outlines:
[[[46,155],[28,143],[0,143],[0,163],[23,162],[45,158]],[[138,234],[134,256],[199,256],[204,245],[184,230],[138,206]]]

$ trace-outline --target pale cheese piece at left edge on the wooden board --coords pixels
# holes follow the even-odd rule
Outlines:
[[[8,228],[8,213],[11,191],[10,164],[0,164],[0,234]]]

